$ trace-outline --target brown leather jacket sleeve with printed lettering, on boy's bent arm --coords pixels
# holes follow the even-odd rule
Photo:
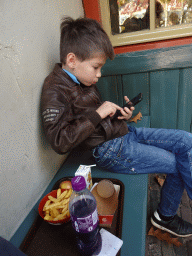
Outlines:
[[[45,136],[58,154],[65,154],[94,133],[101,122],[95,109],[74,113],[72,102],[57,88],[50,87],[41,96],[41,115]]]

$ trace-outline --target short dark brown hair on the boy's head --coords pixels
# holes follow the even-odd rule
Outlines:
[[[81,61],[100,51],[114,59],[113,46],[101,25],[93,19],[64,17],[61,23],[60,61],[66,64],[67,54],[73,52]]]

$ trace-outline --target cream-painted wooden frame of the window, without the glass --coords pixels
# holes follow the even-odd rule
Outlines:
[[[192,24],[155,28],[155,1],[150,0],[150,29],[112,35],[109,0],[99,0],[101,22],[114,47],[192,36]]]

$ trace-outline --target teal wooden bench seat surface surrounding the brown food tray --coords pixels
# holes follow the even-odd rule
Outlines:
[[[133,125],[133,124],[131,124]],[[149,117],[143,117],[136,125],[149,127]],[[67,160],[58,170],[57,174],[47,187],[43,196],[52,190],[54,184],[63,177],[73,177],[80,164],[95,164],[90,152],[74,150]],[[94,178],[114,178],[124,184],[124,208],[122,220],[122,240],[121,255],[144,256],[145,236],[146,236],[146,215],[147,215],[147,188],[148,175],[128,175],[105,171],[98,166],[92,168]],[[42,197],[43,197],[42,196]],[[34,207],[38,213],[38,205]],[[23,223],[23,230],[25,224]]]

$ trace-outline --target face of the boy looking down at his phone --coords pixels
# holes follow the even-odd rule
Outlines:
[[[96,84],[101,77],[101,68],[106,62],[104,54],[96,54],[94,57],[80,61],[76,59],[73,74],[86,86]]]

